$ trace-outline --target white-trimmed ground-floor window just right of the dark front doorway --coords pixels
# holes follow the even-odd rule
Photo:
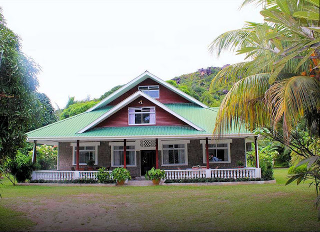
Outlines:
[[[187,164],[186,144],[162,144],[162,165]]]

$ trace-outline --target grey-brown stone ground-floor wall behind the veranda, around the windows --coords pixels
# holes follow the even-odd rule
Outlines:
[[[201,165],[205,166],[203,163],[203,154],[202,154],[202,144],[199,139],[190,139],[188,143],[188,165],[179,165],[179,166],[162,166],[161,165],[161,150],[159,150],[159,168],[161,169],[177,169],[180,167],[191,168],[192,166]],[[75,165],[72,165],[72,146],[70,142],[59,142],[59,161],[58,168],[59,170],[71,170],[71,167],[75,168]],[[107,141],[101,141],[98,146],[98,165],[104,166],[113,169],[111,167],[111,147]],[[233,138],[232,143],[230,143],[230,163],[210,163],[210,168],[231,168],[236,167],[236,162],[241,160],[245,163],[245,150],[244,150],[244,138]],[[140,151],[136,151],[136,166],[128,166],[128,170],[136,170],[140,166]],[[80,167],[83,167],[80,165]]]

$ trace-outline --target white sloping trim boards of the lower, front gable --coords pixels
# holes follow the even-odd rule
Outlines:
[[[98,118],[96,118],[94,121],[92,121],[90,124],[86,125],[84,128],[80,129],[77,133],[83,133],[88,129],[91,129],[92,127],[94,127],[95,125],[99,124],[101,121],[105,120],[106,118],[108,118],[109,116],[111,116],[112,114],[114,114],[115,112],[117,112],[118,110],[120,110],[121,108],[123,108],[125,105],[127,105],[128,103],[132,102],[133,100],[135,100],[136,98],[138,98],[139,96],[143,96],[144,98],[148,99],[149,101],[151,101],[152,103],[156,104],[157,106],[163,108],[165,111],[167,111],[168,113],[171,113],[172,115],[174,115],[175,117],[179,118],[180,120],[184,121],[185,123],[187,123],[188,125],[192,126],[193,128],[195,128],[196,130],[204,130],[201,127],[197,126],[196,124],[194,124],[193,122],[189,121],[188,119],[182,117],[180,114],[174,112],[173,110],[171,110],[170,108],[166,107],[164,104],[162,104],[161,102],[153,99],[152,97],[150,97],[149,95],[145,94],[142,91],[136,91],[135,93],[133,93],[132,95],[130,95],[129,97],[125,98],[124,100],[122,100],[120,103],[118,103],[117,105],[115,105],[114,107],[112,107],[110,110],[108,110],[107,112],[105,112],[104,114],[102,114],[101,116],[99,116]]]

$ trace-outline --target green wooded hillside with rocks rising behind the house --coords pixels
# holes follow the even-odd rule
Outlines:
[[[223,67],[227,65],[228,64],[224,65]],[[176,76],[171,80],[167,80],[166,82],[193,96],[204,104],[215,107],[220,105],[223,97],[232,86],[232,83],[214,86],[211,89],[211,92],[209,92],[211,80],[219,70],[221,70],[221,67],[207,67],[206,69],[200,68],[198,71]],[[96,99],[74,101],[73,104],[70,104],[68,107],[64,108],[62,112],[58,113],[59,118],[64,119],[84,112],[121,86],[122,85],[117,85],[111,88],[111,90],[105,92]]]

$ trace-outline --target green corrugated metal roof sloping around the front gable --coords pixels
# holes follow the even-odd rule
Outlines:
[[[92,128],[82,133],[76,133],[113,106],[104,106],[90,112],[83,112],[75,116],[54,122],[26,133],[28,138],[54,137],[100,137],[100,136],[139,136],[139,135],[183,135],[183,134],[211,134],[213,131],[218,108],[203,108],[194,103],[165,104],[172,111],[204,129],[199,131],[191,126],[125,126]],[[107,119],[106,119],[107,120]],[[248,133],[246,130],[234,130],[229,133]]]

